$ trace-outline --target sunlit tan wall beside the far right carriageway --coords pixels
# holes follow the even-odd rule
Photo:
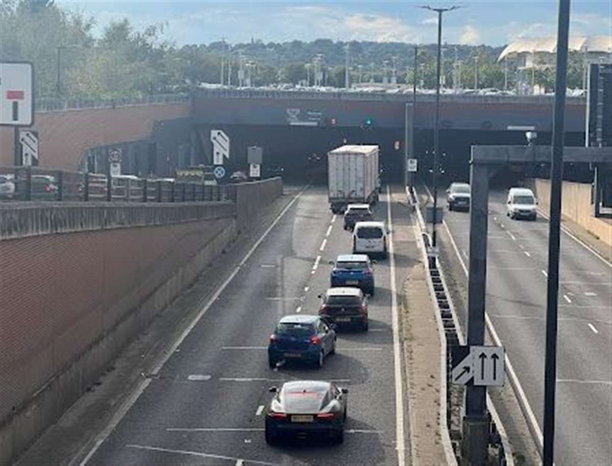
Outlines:
[[[550,180],[531,180],[531,185],[535,196],[540,202],[540,207],[549,213]],[[612,225],[609,221],[593,216],[591,190],[592,187],[589,183],[564,181],[561,196],[561,214],[598,237],[607,245],[612,246]]]

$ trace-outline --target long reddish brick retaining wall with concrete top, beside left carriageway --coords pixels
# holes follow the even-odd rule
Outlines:
[[[282,182],[236,190],[237,204],[3,206],[0,465],[58,420]]]

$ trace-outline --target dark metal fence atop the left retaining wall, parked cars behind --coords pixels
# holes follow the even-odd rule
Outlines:
[[[236,201],[235,185],[205,185],[131,175],[0,166],[0,200],[102,202]]]

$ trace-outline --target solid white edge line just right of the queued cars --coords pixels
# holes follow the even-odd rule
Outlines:
[[[401,379],[400,360],[400,324],[397,311],[397,289],[395,288],[395,254],[393,245],[393,223],[391,219],[391,193],[387,185],[387,224],[389,225],[389,263],[391,269],[391,313],[393,327],[393,359],[395,378],[395,445],[397,448],[398,466],[405,466],[405,439],[404,439],[404,401],[403,384]]]

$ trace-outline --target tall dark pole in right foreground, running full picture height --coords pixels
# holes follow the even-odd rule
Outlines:
[[[554,462],[554,397],[557,377],[561,180],[563,179],[563,140],[565,136],[565,91],[567,88],[567,42],[569,28],[570,0],[559,0],[557,70],[554,80],[553,154],[550,169],[550,221],[548,223],[548,290],[546,306],[546,353],[544,357],[543,466],[553,466]]]

